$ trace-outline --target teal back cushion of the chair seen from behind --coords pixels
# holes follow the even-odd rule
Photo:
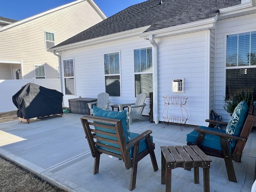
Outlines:
[[[127,115],[126,115],[126,110],[121,111],[121,112],[117,112],[117,111],[110,111],[110,110],[102,110],[96,106],[93,106],[93,115],[94,116],[99,116],[99,117],[106,117],[106,118],[113,118],[113,119],[119,119],[122,120],[122,126],[124,129],[124,136],[126,139],[126,143],[130,142],[130,128],[129,128],[129,124],[127,122]],[[102,127],[98,127],[98,126],[94,126],[94,128],[96,130],[102,130],[102,131],[106,131],[106,132],[111,132],[111,133],[115,133],[115,130],[112,129],[108,129],[108,128],[102,128]],[[108,135],[103,135],[103,134],[96,134],[99,137],[102,138],[107,138],[107,139],[111,139],[111,140],[117,140],[116,137],[112,137],[112,136],[108,136]],[[105,144],[105,145],[110,145],[116,148],[119,148],[118,144],[113,144],[110,142],[106,142],[103,140],[98,140],[98,142]],[[116,150],[112,150],[109,148],[104,148],[101,146],[97,146],[98,148],[102,148],[104,150],[108,150],[117,154],[120,154],[120,152],[116,151]]]

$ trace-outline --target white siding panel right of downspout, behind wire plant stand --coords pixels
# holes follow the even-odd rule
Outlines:
[[[165,109],[163,96],[187,96],[187,124],[206,125],[208,98],[207,50],[210,33],[208,31],[184,34],[156,40],[158,44],[158,110],[159,120]],[[172,93],[172,79],[184,78],[184,93]],[[181,116],[180,106],[169,106],[171,114]]]

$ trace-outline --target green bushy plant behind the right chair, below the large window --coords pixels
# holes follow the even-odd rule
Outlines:
[[[237,92],[233,96],[230,97],[230,99],[225,98],[225,104],[224,104],[224,110],[230,114],[230,116],[233,114],[234,109],[240,103],[241,101],[245,100],[248,108],[252,105],[253,103],[253,93],[252,91],[241,91]]]

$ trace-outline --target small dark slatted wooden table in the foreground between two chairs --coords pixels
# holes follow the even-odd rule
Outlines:
[[[165,191],[171,192],[172,169],[194,168],[194,183],[199,183],[199,167],[203,168],[204,192],[210,192],[210,162],[212,161],[198,146],[161,146],[161,183]]]

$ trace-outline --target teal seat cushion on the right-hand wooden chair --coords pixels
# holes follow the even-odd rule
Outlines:
[[[218,132],[222,132],[222,133],[226,132],[225,130],[204,127],[204,126],[199,126],[198,128],[205,129],[205,130],[214,130],[214,131],[218,131]],[[195,143],[198,133],[199,132],[197,132],[197,131],[192,131],[189,134],[187,134],[187,142]],[[229,143],[228,145],[229,145],[229,149],[231,152],[231,144]],[[202,146],[222,151],[222,146],[220,144],[220,137],[216,136],[216,135],[206,134],[204,137],[204,140],[202,142]]]

